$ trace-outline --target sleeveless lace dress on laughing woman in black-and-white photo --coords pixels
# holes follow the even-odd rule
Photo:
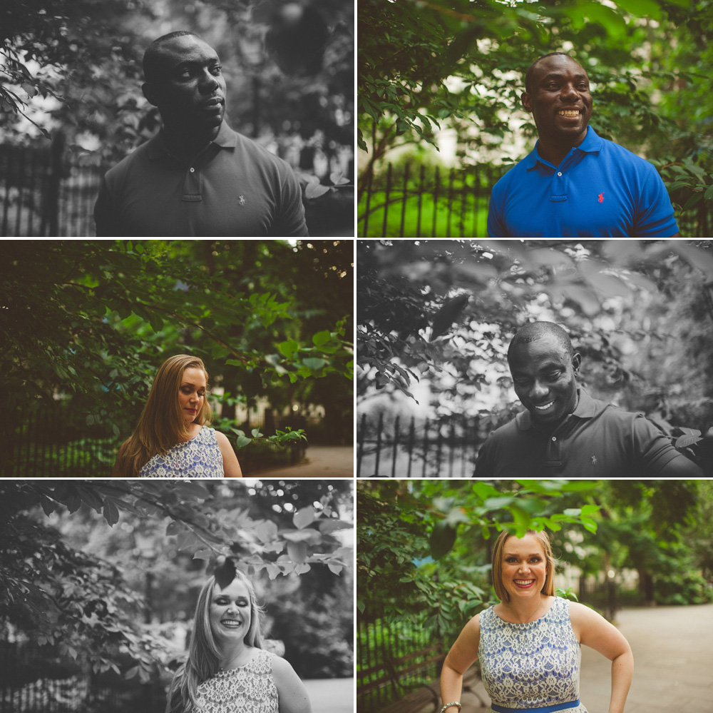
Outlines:
[[[265,649],[245,666],[219,671],[196,690],[200,713],[279,713],[272,656]]]

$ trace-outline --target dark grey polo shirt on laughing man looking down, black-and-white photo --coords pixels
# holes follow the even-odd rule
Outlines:
[[[579,390],[577,407],[553,431],[539,430],[528,410],[488,435],[478,451],[478,478],[702,476],[671,439],[641,413]]]

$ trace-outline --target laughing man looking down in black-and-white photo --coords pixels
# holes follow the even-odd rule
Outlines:
[[[508,363],[525,410],[488,436],[474,477],[702,477],[644,415],[578,385],[581,357],[560,326],[520,328]]]

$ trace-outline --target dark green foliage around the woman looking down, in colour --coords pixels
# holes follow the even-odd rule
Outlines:
[[[338,247],[339,241],[324,246],[325,263],[329,248]],[[295,251],[282,241],[8,243],[0,285],[0,365],[9,390],[4,425],[16,411],[60,399],[88,428],[111,428],[118,438],[138,420],[158,365],[181,350],[205,361],[226,400],[239,390],[247,405],[260,393],[275,408],[303,395],[308,403],[305,384],[321,378],[331,380],[332,400],[348,394],[351,286],[349,302],[342,283],[329,310],[322,308],[296,274],[302,251],[310,258],[312,243]],[[292,343],[294,349],[274,355],[277,345]],[[236,403],[222,409],[230,418],[232,408],[232,428]],[[277,440],[293,438],[284,433]]]

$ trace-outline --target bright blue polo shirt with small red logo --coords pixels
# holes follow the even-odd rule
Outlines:
[[[538,145],[493,187],[491,238],[670,238],[678,232],[656,168],[589,126],[559,166]]]

